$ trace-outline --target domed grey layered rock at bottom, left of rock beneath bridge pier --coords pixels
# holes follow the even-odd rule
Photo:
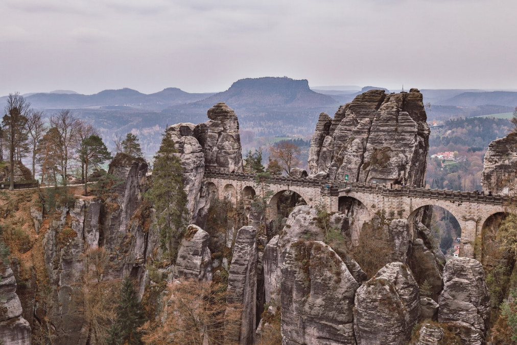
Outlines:
[[[354,327],[358,344],[406,344],[419,318],[418,284],[401,262],[387,264],[357,290]]]

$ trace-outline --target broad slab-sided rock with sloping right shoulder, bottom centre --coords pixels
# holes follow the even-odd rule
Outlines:
[[[293,243],[282,265],[283,344],[355,343],[352,307],[358,286],[323,242]]]

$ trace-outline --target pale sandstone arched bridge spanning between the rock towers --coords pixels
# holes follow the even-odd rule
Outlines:
[[[230,199],[234,204],[240,201],[250,203],[255,195],[255,175],[229,173],[214,170],[205,171],[208,190],[217,192],[218,198]],[[405,218],[413,227],[413,219],[423,206],[435,205],[445,208],[459,222],[461,227],[460,256],[474,258],[482,245],[483,225],[496,214],[508,212],[511,204],[517,204],[517,197],[480,194],[440,189],[399,187],[390,188],[381,184],[330,181],[303,177],[273,176],[269,189],[273,192],[269,206],[276,206],[279,197],[286,190],[298,193],[309,205],[325,206],[330,212],[340,210],[346,200],[358,201],[366,208],[370,219],[385,212],[386,216]],[[274,216],[277,207],[269,207],[269,217]],[[368,221],[368,220],[367,220]],[[479,254],[478,254],[479,255]]]

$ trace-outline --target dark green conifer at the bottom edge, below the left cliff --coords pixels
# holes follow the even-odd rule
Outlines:
[[[110,344],[141,344],[141,334],[138,327],[144,322],[140,302],[134,291],[131,278],[126,276],[122,281],[119,292],[116,319],[110,329]]]

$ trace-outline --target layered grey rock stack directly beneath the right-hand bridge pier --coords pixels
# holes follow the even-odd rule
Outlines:
[[[490,320],[490,296],[482,265],[475,259],[452,259],[444,268],[438,322],[460,332],[463,343],[484,342]]]

